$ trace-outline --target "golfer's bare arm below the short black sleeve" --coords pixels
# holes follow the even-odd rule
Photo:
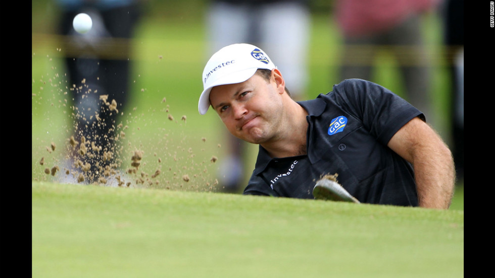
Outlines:
[[[413,165],[419,206],[449,208],[456,174],[452,153],[440,136],[415,117],[392,136],[387,146]]]

